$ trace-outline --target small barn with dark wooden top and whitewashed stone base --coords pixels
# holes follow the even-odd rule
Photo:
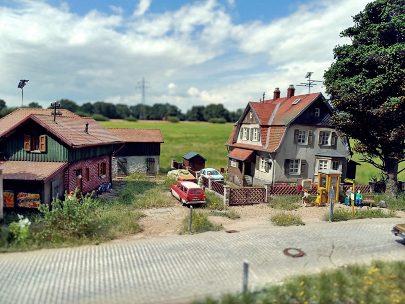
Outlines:
[[[124,145],[112,158],[113,177],[130,173],[155,176],[159,172],[160,144],[164,142],[159,129],[108,128]]]

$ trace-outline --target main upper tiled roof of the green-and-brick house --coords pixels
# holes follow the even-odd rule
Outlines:
[[[11,113],[0,120],[0,137],[8,136],[16,127],[32,120],[74,148],[121,142],[118,136],[93,118],[80,117],[70,111],[62,110],[62,116],[57,116],[54,121],[54,116],[48,113],[49,109],[41,109],[43,111],[27,109],[34,110],[32,112],[19,110],[13,112],[15,115]],[[89,123],[87,133],[85,132],[86,123]]]

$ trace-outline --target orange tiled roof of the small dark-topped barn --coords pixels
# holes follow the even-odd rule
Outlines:
[[[126,142],[165,142],[160,129],[108,128]]]

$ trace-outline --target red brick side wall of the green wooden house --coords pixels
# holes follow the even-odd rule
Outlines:
[[[106,174],[102,177],[99,176],[99,167],[100,163],[106,163]],[[89,180],[86,176],[86,169],[89,168]],[[92,159],[87,159],[83,161],[78,161],[70,163],[69,167],[65,169],[65,191],[74,191],[76,188],[76,173],[73,172],[73,169],[79,170],[82,169],[82,193],[86,194],[97,189],[98,186],[103,182],[111,181],[111,158],[109,155],[104,155],[101,157],[96,157]]]

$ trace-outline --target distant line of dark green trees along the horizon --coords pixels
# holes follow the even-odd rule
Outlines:
[[[104,101],[84,103],[78,105],[72,100],[61,99],[62,109],[67,109],[79,116],[94,117],[96,120],[127,119],[127,120],[172,120],[200,121],[200,122],[236,122],[243,109],[228,111],[222,104],[209,104],[207,106],[193,106],[184,114],[181,110],[169,103],[155,103],[154,105],[137,104],[112,104]],[[31,102],[27,108],[42,108],[37,102]],[[9,108],[6,102],[0,99],[0,118],[8,115],[18,107]],[[49,108],[52,108],[51,106]]]

